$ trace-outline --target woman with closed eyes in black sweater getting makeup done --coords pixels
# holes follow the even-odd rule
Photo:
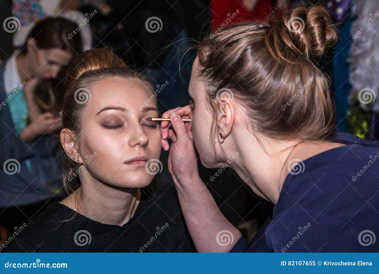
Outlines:
[[[159,125],[146,121],[158,115],[150,81],[108,49],[81,53],[68,71],[60,139],[69,196],[8,252],[193,251],[175,198],[143,190],[161,151]]]

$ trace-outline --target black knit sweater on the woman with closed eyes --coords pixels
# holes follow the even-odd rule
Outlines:
[[[5,251],[196,251],[186,230],[179,203],[172,194],[141,199],[133,217],[122,227],[102,224],[75,213],[66,205],[52,203],[27,224]]]

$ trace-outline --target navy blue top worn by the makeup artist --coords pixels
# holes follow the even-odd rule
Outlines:
[[[347,133],[332,141],[346,146],[293,169],[272,216],[231,252],[379,252],[379,144]]]

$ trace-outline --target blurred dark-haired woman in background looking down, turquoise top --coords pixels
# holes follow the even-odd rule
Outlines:
[[[80,36],[68,39],[77,25],[61,18],[37,23],[23,47],[0,69],[0,225],[8,232],[28,222],[45,201],[61,193],[52,156],[60,117],[41,114],[36,86],[56,78],[81,52]],[[61,83],[60,83],[61,84]],[[56,87],[56,86],[55,86]]]

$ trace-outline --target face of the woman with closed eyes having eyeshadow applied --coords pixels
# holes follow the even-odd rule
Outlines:
[[[91,87],[89,100],[82,116],[80,155],[89,173],[118,187],[144,187],[154,175],[147,172],[147,161],[159,159],[161,132],[157,122],[146,121],[158,117],[155,102],[143,110],[151,92],[141,81],[125,78],[99,80]],[[141,157],[132,161],[133,157]],[[131,162],[132,161],[132,162]],[[151,163],[157,163],[157,160]]]

